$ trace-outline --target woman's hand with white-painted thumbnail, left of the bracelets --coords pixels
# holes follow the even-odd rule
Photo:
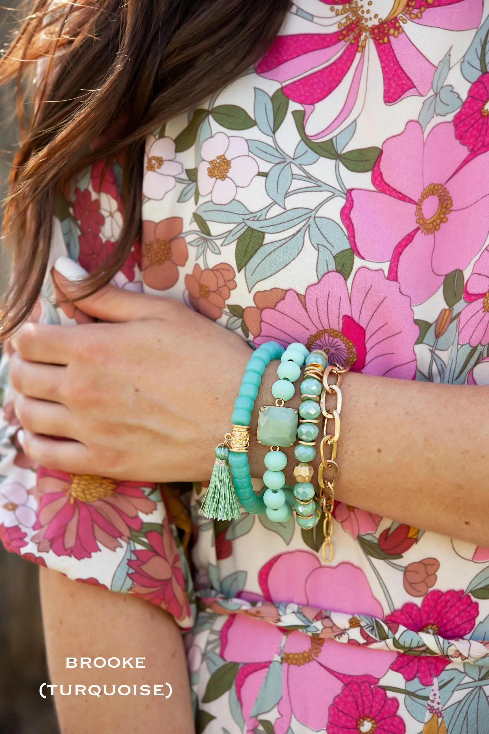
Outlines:
[[[251,355],[246,342],[170,298],[107,286],[77,306],[118,323],[28,323],[12,339],[26,453],[47,468],[114,479],[209,479]]]

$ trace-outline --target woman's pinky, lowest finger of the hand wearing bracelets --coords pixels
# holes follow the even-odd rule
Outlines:
[[[55,440],[24,431],[24,451],[36,465],[73,474],[97,474],[90,449],[78,441]]]

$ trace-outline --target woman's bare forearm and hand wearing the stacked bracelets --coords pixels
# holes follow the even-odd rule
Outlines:
[[[63,283],[68,291],[70,284]],[[229,430],[249,346],[171,299],[106,288],[79,308],[128,323],[76,329],[28,324],[14,338],[19,355],[12,379],[24,394],[16,407],[29,429],[29,454],[42,465],[74,473],[209,479],[213,448]],[[255,401],[251,435],[260,405],[273,403],[275,379],[272,363]],[[337,498],[489,545],[489,388],[350,373],[342,389]],[[290,404],[299,401],[296,389]],[[265,450],[253,443],[252,476],[263,473]]]

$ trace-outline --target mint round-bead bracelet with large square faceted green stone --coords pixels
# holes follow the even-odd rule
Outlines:
[[[280,451],[281,446],[293,446],[296,442],[299,415],[293,408],[285,408],[284,402],[293,398],[293,383],[301,376],[301,366],[309,355],[309,350],[302,344],[290,344],[282,354],[282,361],[277,369],[279,379],[274,382],[271,393],[276,399],[275,405],[260,408],[258,414],[257,442],[271,447],[265,455],[266,471],[263,483],[266,490],[263,501],[269,520],[285,523],[292,515],[290,502],[283,487],[287,456]]]

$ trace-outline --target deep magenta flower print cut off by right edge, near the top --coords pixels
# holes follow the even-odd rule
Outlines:
[[[482,74],[468,90],[467,99],[454,117],[455,137],[468,150],[489,145],[489,74]]]

